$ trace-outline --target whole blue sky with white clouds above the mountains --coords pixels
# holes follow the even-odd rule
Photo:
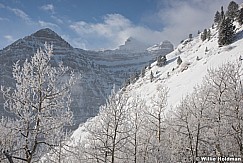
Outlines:
[[[83,49],[114,49],[128,37],[176,45],[210,27],[216,10],[230,1],[0,0],[0,49],[46,27]]]

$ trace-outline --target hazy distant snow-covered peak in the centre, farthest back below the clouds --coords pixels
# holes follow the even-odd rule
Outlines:
[[[148,49],[151,49],[148,45],[130,37],[118,49],[92,53],[89,58],[107,70],[120,86],[124,79],[140,74],[141,69],[154,62],[156,57],[174,50],[169,41],[163,42],[157,50]]]

